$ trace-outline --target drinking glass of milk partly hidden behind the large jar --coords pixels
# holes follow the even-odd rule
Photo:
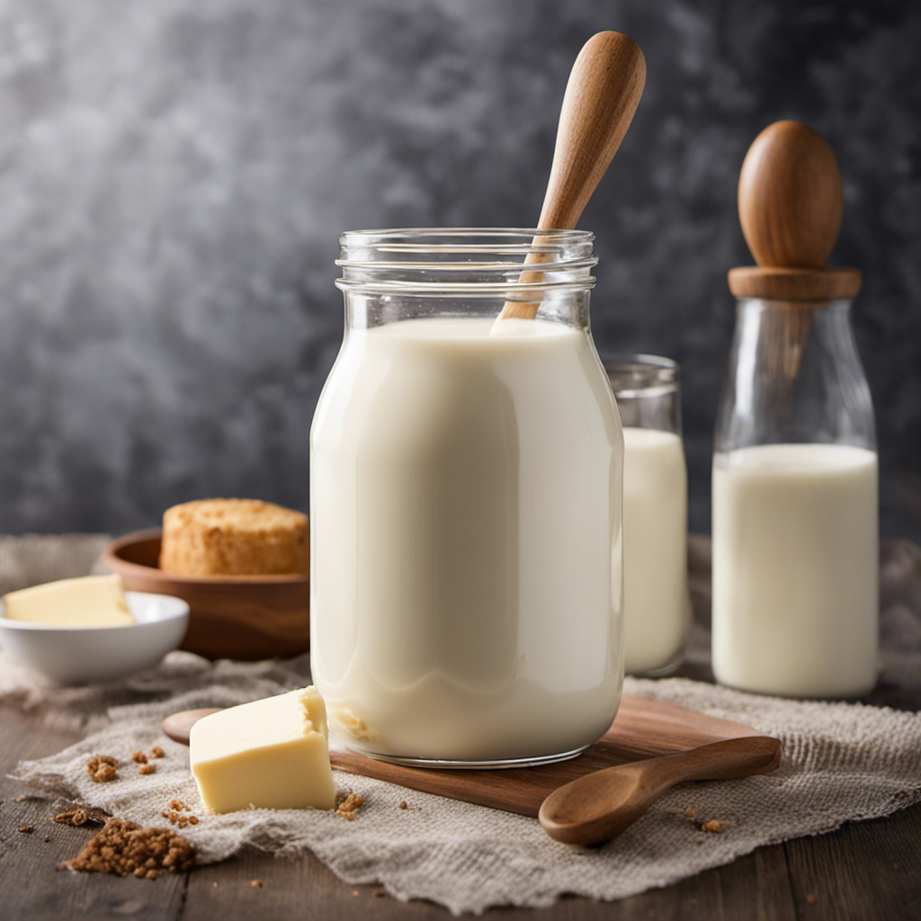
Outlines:
[[[680,372],[647,355],[604,369],[624,426],[624,670],[662,675],[682,660],[690,613]]]

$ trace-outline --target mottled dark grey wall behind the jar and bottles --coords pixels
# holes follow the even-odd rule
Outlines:
[[[866,0],[0,3],[0,530],[127,530],[198,495],[307,503],[349,227],[527,225],[598,29],[644,99],[582,221],[600,348],[677,358],[695,527],[749,262],[735,184],[796,117],[845,176],[836,261],[886,530],[921,483],[921,4]]]

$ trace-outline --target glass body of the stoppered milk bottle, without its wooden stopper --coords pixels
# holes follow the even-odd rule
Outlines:
[[[713,464],[713,669],[734,687],[876,682],[877,456],[849,310],[738,300]]]

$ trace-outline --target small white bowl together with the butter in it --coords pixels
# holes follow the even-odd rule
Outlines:
[[[181,598],[125,592],[118,576],[62,579],[4,596],[0,647],[59,684],[109,682],[157,665],[189,626]]]

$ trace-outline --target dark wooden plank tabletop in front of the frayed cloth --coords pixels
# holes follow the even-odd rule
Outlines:
[[[918,702],[921,705],[921,701]],[[249,921],[267,918],[435,919],[451,915],[426,902],[403,904],[378,886],[336,879],[311,855],[278,859],[256,851],[157,880],[119,879],[54,868],[94,832],[51,822],[51,801],[6,773],[76,741],[74,733],[0,709],[0,918],[125,917]],[[919,778],[921,782],[921,778]],[[17,799],[24,795],[25,799]],[[23,834],[20,826],[35,831]],[[614,903],[562,899],[546,909],[495,909],[484,918],[834,918],[921,917],[921,804],[887,819],[855,822],[832,834],[761,847],[726,867]],[[251,885],[261,880],[262,888]]]

